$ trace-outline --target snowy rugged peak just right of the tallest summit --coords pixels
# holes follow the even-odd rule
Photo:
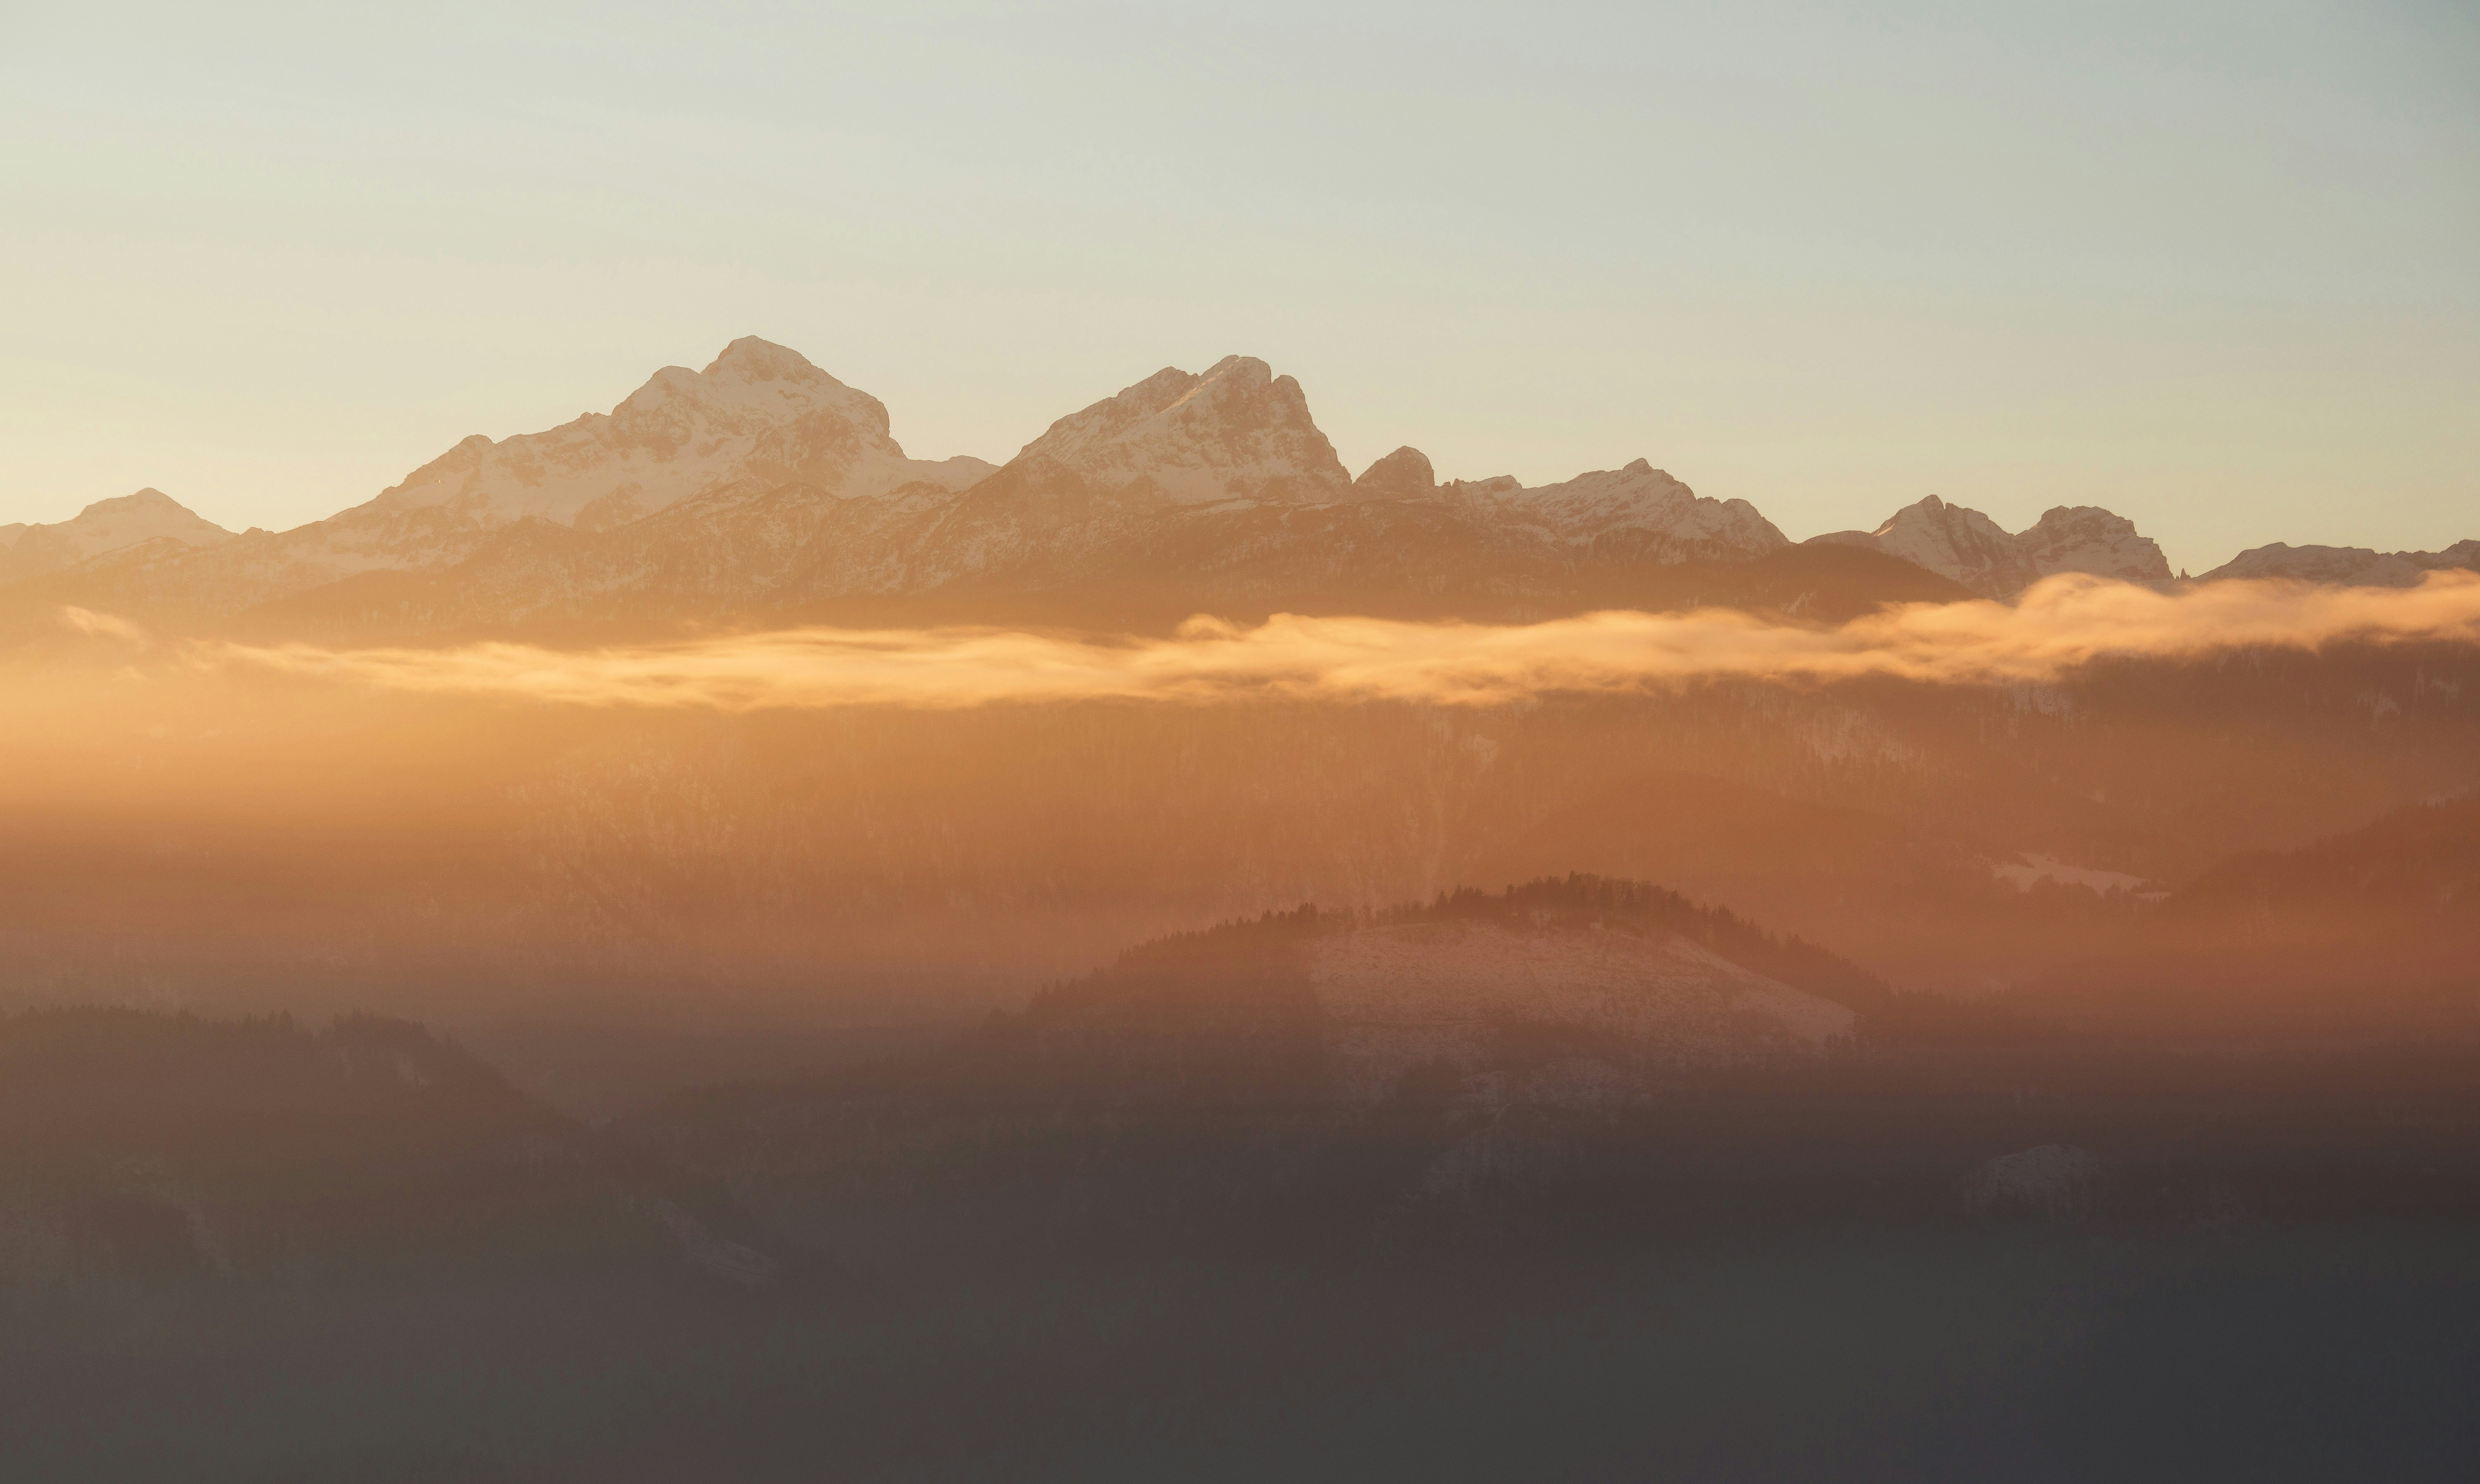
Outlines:
[[[1171,504],[1352,499],[1300,382],[1247,355],[1225,355],[1205,375],[1163,367],[1061,417],[1017,454],[1034,457],[1099,489],[1148,479]]]

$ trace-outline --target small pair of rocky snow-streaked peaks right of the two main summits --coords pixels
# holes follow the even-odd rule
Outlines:
[[[2163,548],[2138,534],[2135,521],[2101,506],[2051,506],[2029,531],[2011,534],[1982,511],[1932,494],[1875,531],[1833,531],[1810,541],[1885,551],[1989,598],[2011,598],[2063,571],[2128,583],[2170,581]]]

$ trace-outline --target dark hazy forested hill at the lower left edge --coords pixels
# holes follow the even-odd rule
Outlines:
[[[580,1134],[402,1020],[0,1015],[0,1290],[665,1251]]]

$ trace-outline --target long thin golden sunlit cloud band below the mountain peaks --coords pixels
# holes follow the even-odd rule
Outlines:
[[[1734,610],[1528,625],[1275,615],[1255,628],[1195,618],[1173,638],[1118,643],[987,628],[789,628],[603,650],[218,643],[188,660],[397,692],[746,712],[1069,700],[1503,705],[1696,680],[2011,685],[2108,658],[2411,640],[2480,643],[2480,576],[2430,573],[2418,588],[2207,583],[2177,593],[2058,576],[2016,603],[1907,603],[1840,628]]]

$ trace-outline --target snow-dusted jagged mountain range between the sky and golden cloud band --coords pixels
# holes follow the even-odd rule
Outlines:
[[[2205,573],[2408,583],[2440,553],[2259,546]],[[888,409],[744,337],[608,414],[469,437],[360,506],[233,536],[146,489],[0,526],[0,623],[62,603],[166,628],[446,633],[538,620],[818,615],[1178,620],[1198,606],[1548,615],[1743,603],[2009,598],[2061,571],[2175,581],[2135,524],[2058,506],[2009,534],[1922,499],[1793,546],[1743,499],[1637,459],[1560,484],[1441,481],[1419,449],[1357,479],[1292,377],[1252,357],[1161,370],[1007,464],[910,459]],[[1959,591],[1957,591],[1959,588]],[[1840,596],[1840,598],[1838,598]]]

